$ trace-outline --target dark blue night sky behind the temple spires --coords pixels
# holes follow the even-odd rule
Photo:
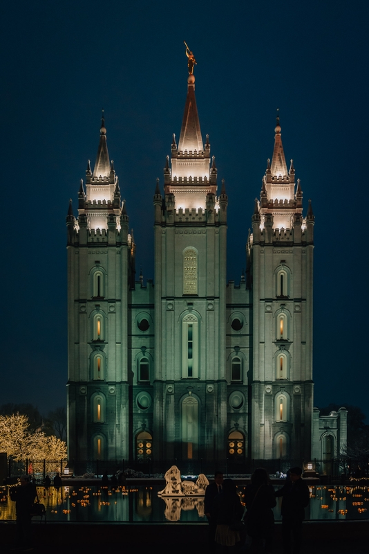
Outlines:
[[[279,108],[287,166],[316,217],[314,405],[369,416],[368,1],[13,0],[1,19],[0,404],[65,404],[65,218],[95,163],[102,108],[136,267],[153,278],[152,199],[180,133],[185,39],[229,197],[227,278],[245,267]]]

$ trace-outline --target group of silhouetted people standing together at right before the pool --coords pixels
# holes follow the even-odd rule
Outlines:
[[[255,470],[245,489],[245,508],[231,479],[216,472],[214,483],[205,492],[205,515],[209,521],[209,548],[215,553],[248,551],[250,554],[274,550],[276,497],[282,497],[283,554],[299,554],[305,507],[310,491],[301,479],[301,467],[292,467],[285,485],[274,491],[267,471]]]

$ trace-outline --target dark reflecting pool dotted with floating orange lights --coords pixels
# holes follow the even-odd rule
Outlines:
[[[0,488],[1,520],[15,520],[15,502],[10,500],[8,489]],[[162,485],[115,488],[79,485],[59,490],[37,487],[37,492],[39,501],[46,507],[48,521],[207,521],[203,497],[160,498],[160,489]],[[245,488],[238,486],[241,501],[244,492]],[[314,486],[310,487],[310,505],[305,509],[305,519],[368,519],[368,508],[368,485]],[[281,519],[281,499],[277,499],[274,518]]]

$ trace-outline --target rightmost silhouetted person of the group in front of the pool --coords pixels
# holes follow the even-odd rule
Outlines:
[[[291,467],[289,478],[276,497],[282,497],[282,538],[283,554],[299,554],[303,532],[305,508],[308,506],[310,491],[303,482],[301,467]]]

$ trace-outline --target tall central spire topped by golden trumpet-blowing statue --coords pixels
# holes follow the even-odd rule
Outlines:
[[[198,108],[196,106],[195,75],[193,75],[193,67],[196,64],[196,60],[187,44],[186,55],[188,57],[189,77],[187,79],[187,99],[185,113],[183,114],[182,128],[180,129],[178,151],[185,152],[185,150],[187,150],[187,152],[202,152],[202,150],[204,150],[204,145],[202,143]]]

